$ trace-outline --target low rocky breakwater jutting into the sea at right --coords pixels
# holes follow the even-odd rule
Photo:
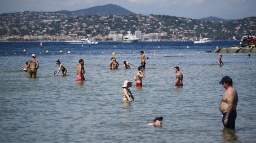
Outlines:
[[[231,48],[216,48],[214,53],[256,53],[256,48],[241,48],[241,47],[231,47]]]

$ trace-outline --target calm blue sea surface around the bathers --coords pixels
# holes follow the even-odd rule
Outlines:
[[[220,67],[218,53],[204,53],[238,44],[2,42],[0,142],[255,143],[256,55],[224,53],[225,65]],[[143,87],[136,88],[133,76],[141,64],[140,50],[149,59]],[[68,51],[71,54],[65,54]],[[120,64],[114,71],[108,67],[112,52]],[[36,79],[18,70],[31,54],[40,64]],[[53,75],[58,59],[67,69],[66,77],[61,72]],[[76,81],[79,59],[84,59],[86,71],[86,80],[80,83]],[[137,67],[124,70],[124,60]],[[174,66],[183,73],[183,88],[173,86]],[[225,75],[233,79],[239,97],[235,130],[224,129],[219,111],[225,89],[218,82]],[[130,89],[137,100],[122,102],[124,80],[133,81]],[[163,116],[163,127],[144,126],[156,116]]]

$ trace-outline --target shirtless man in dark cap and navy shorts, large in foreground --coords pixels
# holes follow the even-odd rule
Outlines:
[[[219,83],[226,89],[220,103],[220,112],[223,114],[222,123],[224,127],[234,129],[238,95],[236,89],[232,86],[233,82],[229,76],[223,77]]]

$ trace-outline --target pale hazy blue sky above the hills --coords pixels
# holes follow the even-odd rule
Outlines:
[[[133,13],[185,18],[216,16],[240,19],[256,16],[256,0],[0,0],[0,14],[24,11],[74,11],[116,4]]]

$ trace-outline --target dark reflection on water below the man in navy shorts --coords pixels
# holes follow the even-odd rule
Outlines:
[[[236,130],[224,128],[222,131],[223,143],[233,143],[238,141],[239,137],[236,135]]]

